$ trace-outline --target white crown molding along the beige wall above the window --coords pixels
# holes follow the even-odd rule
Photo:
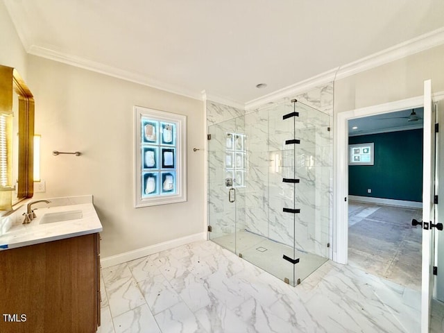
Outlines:
[[[95,62],[76,56],[70,56],[66,53],[53,51],[51,49],[46,49],[44,47],[35,45],[32,45],[28,49],[28,53],[32,54],[33,56],[39,56],[49,60],[62,62],[74,67],[80,67],[89,71],[95,71],[96,73],[105,74],[114,78],[120,78],[122,80],[127,80],[139,85],[146,85],[148,87],[160,89],[165,92],[171,92],[172,94],[178,94],[191,99],[198,99],[200,101],[202,100],[202,96],[196,92],[191,92],[190,90],[183,89],[182,87],[178,87],[176,85],[170,85],[158,80],[153,80],[152,78],[148,78],[148,76],[133,73],[132,71],[126,71],[117,67],[104,65],[100,62]]]

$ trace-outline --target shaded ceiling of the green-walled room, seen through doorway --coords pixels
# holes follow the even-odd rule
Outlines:
[[[414,111],[414,114],[412,114],[412,111]],[[414,108],[350,119],[348,121],[348,135],[353,137],[357,135],[423,128],[423,119],[424,108]]]

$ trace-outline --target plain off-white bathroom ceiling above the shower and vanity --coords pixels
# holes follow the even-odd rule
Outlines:
[[[2,1],[31,54],[241,105],[444,26],[443,0]]]

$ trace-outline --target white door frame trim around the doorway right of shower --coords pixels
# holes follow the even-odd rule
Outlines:
[[[436,94],[438,95],[438,94]],[[444,94],[439,94],[441,98]],[[443,95],[443,96],[441,96]],[[435,101],[438,100],[436,96]],[[334,114],[333,260],[348,264],[348,120],[424,105],[423,96]]]

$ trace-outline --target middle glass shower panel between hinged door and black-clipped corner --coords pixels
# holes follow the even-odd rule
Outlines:
[[[252,264],[264,269],[268,273],[291,283],[293,280],[293,266],[282,263],[282,244],[270,239],[271,223],[285,223],[276,219],[278,212],[270,209],[272,202],[278,200],[280,189],[275,186],[280,178],[281,145],[273,145],[279,138],[275,133],[270,135],[270,117],[273,114],[273,105],[261,108],[246,114],[246,135],[248,178],[245,187],[245,228],[239,228],[237,237],[237,251],[239,256]],[[293,128],[288,130],[292,133]],[[285,132],[281,128],[282,133]],[[281,136],[283,134],[281,133]],[[291,199],[293,196],[291,196]],[[282,205],[280,200],[280,205]],[[282,207],[281,207],[282,210]],[[293,241],[289,241],[293,244]],[[287,250],[292,247],[287,246]]]

